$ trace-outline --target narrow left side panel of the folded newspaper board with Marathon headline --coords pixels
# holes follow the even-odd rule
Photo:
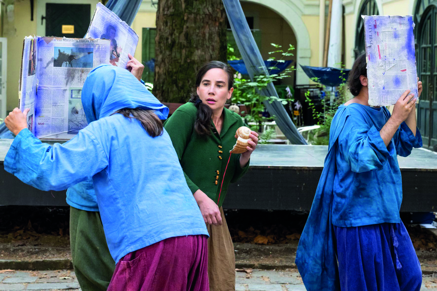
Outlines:
[[[28,129],[35,134],[35,100],[38,88],[36,74],[38,62],[37,38],[28,36],[23,41],[23,56],[21,60],[21,74],[18,85],[18,102],[21,111],[30,109],[27,115]]]

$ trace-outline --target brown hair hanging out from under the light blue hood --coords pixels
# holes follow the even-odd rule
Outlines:
[[[141,108],[123,108],[115,111],[127,118],[138,119],[142,127],[147,131],[151,137],[157,137],[163,134],[163,123],[155,114],[154,110],[145,110]]]

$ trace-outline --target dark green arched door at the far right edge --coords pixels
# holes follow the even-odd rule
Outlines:
[[[415,15],[419,19],[417,32],[417,71],[422,80],[423,92],[417,106],[417,126],[422,134],[423,146],[437,146],[437,5],[431,4],[421,11],[418,2]],[[437,1],[436,1],[437,3]]]

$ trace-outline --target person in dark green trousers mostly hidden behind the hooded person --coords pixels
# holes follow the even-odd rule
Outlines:
[[[126,69],[140,82],[144,65],[128,54]],[[67,189],[70,205],[70,247],[74,273],[82,290],[108,289],[115,262],[108,250],[97,206],[93,180]]]

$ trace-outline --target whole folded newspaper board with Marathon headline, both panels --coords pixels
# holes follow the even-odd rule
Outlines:
[[[28,129],[37,138],[69,140],[87,126],[83,83],[93,68],[109,63],[110,46],[106,39],[24,38],[19,107],[30,109]]]

